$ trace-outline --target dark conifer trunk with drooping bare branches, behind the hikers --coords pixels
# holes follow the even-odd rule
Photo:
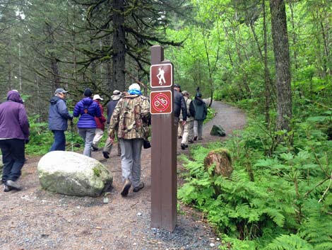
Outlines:
[[[113,64],[111,89],[124,91],[125,88],[125,32],[124,32],[124,0],[114,0],[113,11]]]

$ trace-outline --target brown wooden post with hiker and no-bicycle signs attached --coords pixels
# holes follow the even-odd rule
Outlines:
[[[151,65],[151,227],[173,232],[177,225],[177,127],[172,113],[172,64],[164,60],[160,45],[151,47]]]

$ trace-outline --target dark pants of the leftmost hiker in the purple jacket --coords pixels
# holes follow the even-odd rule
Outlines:
[[[4,169],[2,170],[2,182],[17,181],[20,178],[21,169],[25,161],[25,141],[20,139],[0,140],[2,152],[2,161]]]

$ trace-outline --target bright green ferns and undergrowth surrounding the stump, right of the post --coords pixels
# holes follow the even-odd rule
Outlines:
[[[330,113],[309,110],[291,132],[273,132],[260,120],[249,119],[226,142],[193,147],[179,199],[204,212],[223,235],[222,249],[332,249],[332,142],[324,133]],[[289,140],[276,142],[277,135]],[[203,166],[221,147],[232,156],[230,178]]]

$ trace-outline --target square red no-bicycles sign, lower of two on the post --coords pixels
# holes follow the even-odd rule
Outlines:
[[[150,112],[151,114],[172,113],[172,92],[171,91],[151,92]]]

